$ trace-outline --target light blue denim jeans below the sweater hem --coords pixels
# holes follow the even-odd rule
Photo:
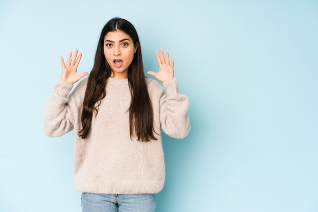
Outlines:
[[[153,212],[154,194],[92,194],[82,193],[83,212]]]

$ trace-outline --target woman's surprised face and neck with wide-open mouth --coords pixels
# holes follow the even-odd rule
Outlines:
[[[121,30],[110,31],[104,38],[104,55],[112,69],[113,78],[128,78],[128,67],[134,59],[137,45]]]

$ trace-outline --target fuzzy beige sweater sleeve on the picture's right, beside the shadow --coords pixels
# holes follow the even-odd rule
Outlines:
[[[163,131],[174,138],[184,138],[190,131],[189,101],[179,93],[176,78],[163,83],[166,92],[160,99],[160,122]]]

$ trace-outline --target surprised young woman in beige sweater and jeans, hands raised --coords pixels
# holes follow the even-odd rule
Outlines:
[[[179,94],[174,58],[156,52],[159,72],[145,78],[135,27],[121,18],[104,26],[94,65],[77,74],[82,54],[65,63],[44,112],[48,136],[74,129],[74,185],[83,211],[154,211],[165,181],[161,129],[175,138],[190,129],[188,99]]]

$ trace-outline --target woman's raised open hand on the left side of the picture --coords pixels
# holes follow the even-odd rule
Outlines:
[[[77,66],[81,61],[82,53],[80,53],[77,57],[77,50],[74,52],[74,56],[72,57],[72,51],[68,56],[68,60],[65,64],[63,57],[61,56],[61,63],[62,63],[62,76],[61,80],[74,84],[79,81],[82,77],[89,75],[87,72],[83,72],[81,74],[77,74]]]

